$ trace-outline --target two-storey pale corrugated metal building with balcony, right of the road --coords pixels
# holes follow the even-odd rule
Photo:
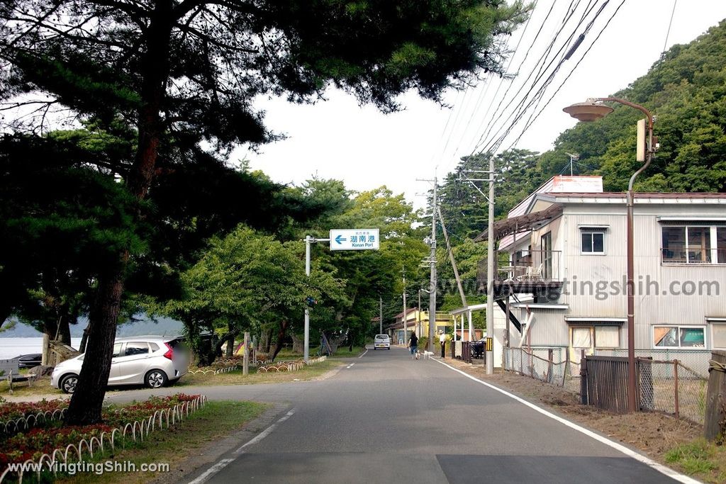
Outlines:
[[[602,192],[597,179],[555,177],[495,224],[509,257],[495,292],[510,323],[523,324],[508,325],[511,346],[568,348],[572,358],[627,348],[625,194]],[[637,193],[634,239],[635,348],[726,348],[726,194]],[[507,318],[497,313],[498,362]]]

